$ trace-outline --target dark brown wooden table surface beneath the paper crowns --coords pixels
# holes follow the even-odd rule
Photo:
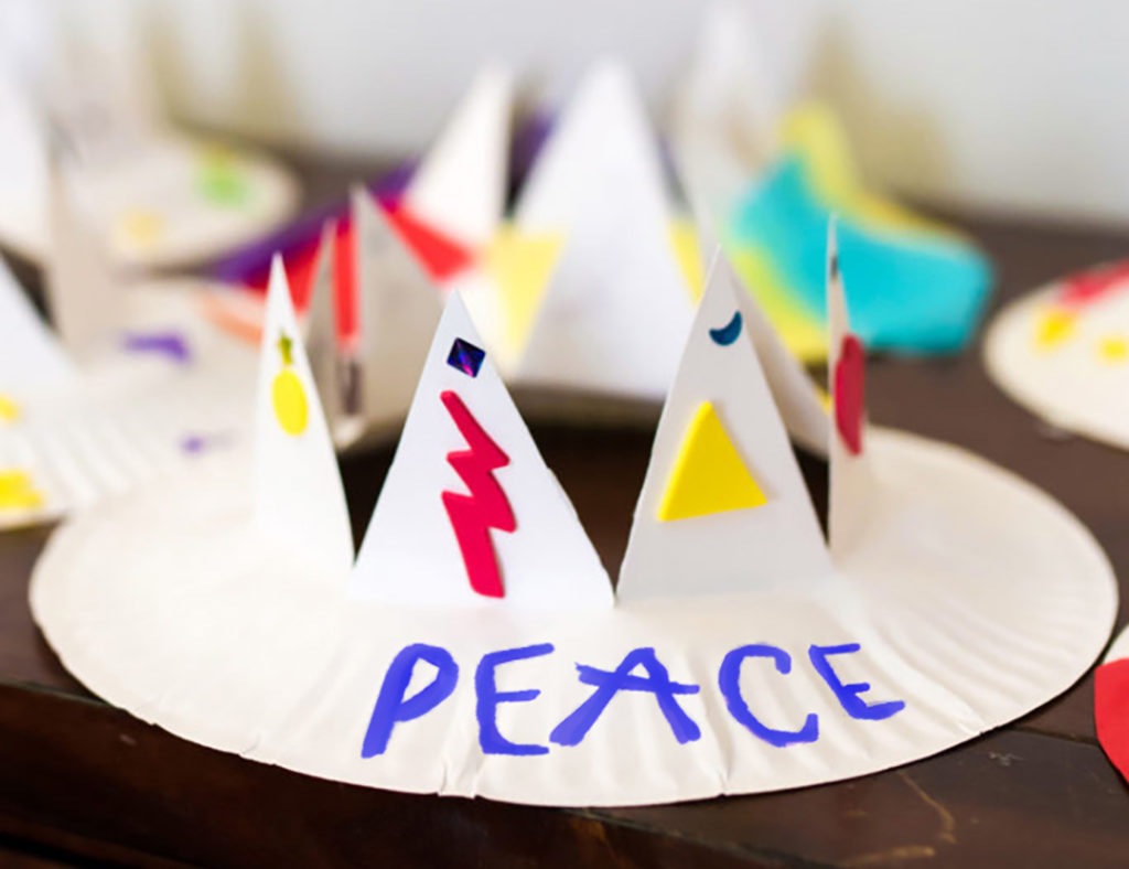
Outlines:
[[[340,187],[323,184],[329,188]],[[1127,234],[959,222],[996,261],[994,309],[1064,271],[1129,253]],[[874,360],[868,375],[873,420],[969,447],[1035,482],[1080,517],[1129,577],[1129,453],[1064,438],[1012,404],[989,383],[979,343],[955,359]],[[534,427],[534,437],[614,570],[650,433]],[[378,450],[343,463],[361,525],[388,459]],[[392,793],[203,748],[94,697],[63,670],[28,613],[28,576],[50,533],[0,535],[0,859],[569,869],[1129,864],[1129,791],[1095,741],[1092,676],[936,757],[798,791],[601,810]]]

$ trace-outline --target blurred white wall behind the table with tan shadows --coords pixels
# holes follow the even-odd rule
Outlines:
[[[0,0],[3,2],[5,0]],[[81,1],[81,0],[78,0]],[[692,0],[89,0],[143,21],[185,120],[291,148],[399,156],[485,58],[559,98],[618,53],[660,116]],[[745,0],[773,98],[835,107],[866,177],[939,203],[1129,222],[1123,0]],[[89,11],[88,9],[86,11]]]

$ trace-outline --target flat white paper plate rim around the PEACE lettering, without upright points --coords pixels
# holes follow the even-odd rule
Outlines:
[[[795,788],[931,755],[1018,718],[1071,685],[1108,639],[1110,565],[1061,506],[995,466],[934,441],[876,431],[882,533],[811,586],[728,598],[620,604],[586,615],[489,605],[406,609],[347,599],[294,541],[251,520],[250,483],[230,459],[177,485],[139,490],[56,533],[30,587],[34,616],[64,666],[139,718],[221,750],[344,782],[515,802],[628,805]],[[461,677],[444,703],[401,725],[385,754],[361,744],[392,658],[409,643],[450,651]],[[499,690],[539,687],[499,706],[535,757],[484,756],[474,672],[487,651],[552,643],[507,665]],[[774,747],[737,725],[718,692],[725,653],[773,643],[787,675],[746,664],[741,687],[763,721],[820,738]],[[808,662],[812,644],[859,643],[835,667],[868,682],[856,720]],[[618,695],[578,746],[550,730],[593,688],[576,664],[613,669],[654,647],[701,726],[680,745],[654,697]],[[417,674],[420,675],[420,674]],[[415,683],[412,683],[415,691]]]

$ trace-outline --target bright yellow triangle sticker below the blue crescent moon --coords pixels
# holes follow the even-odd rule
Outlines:
[[[733,446],[714,405],[703,402],[682,439],[658,506],[659,521],[761,507],[768,499]]]

